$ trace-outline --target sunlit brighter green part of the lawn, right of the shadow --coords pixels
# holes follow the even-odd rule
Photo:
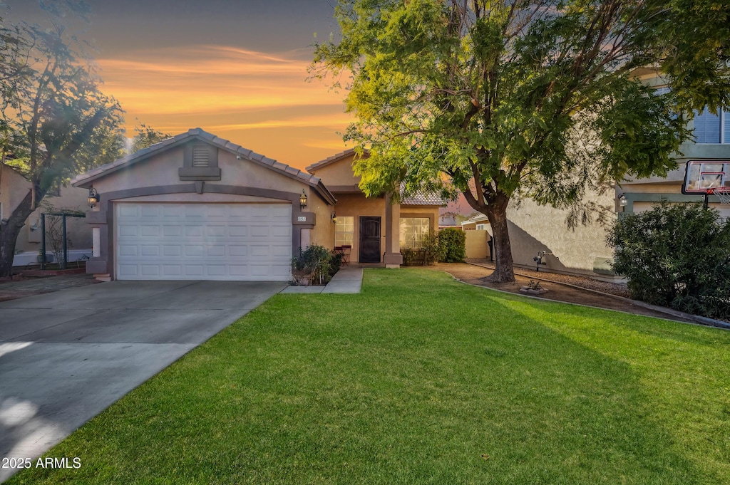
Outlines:
[[[552,302],[514,298],[488,298],[539,324],[540,333],[558,333],[580,347],[566,346],[558,359],[574,361],[571,379],[593,387],[590,400],[604,399],[596,370],[607,370],[610,400],[620,403],[613,422],[626,419],[615,429],[626,433],[626,443],[643,436],[644,445],[626,448],[624,457],[650,466],[655,472],[648,483],[666,475],[688,483],[723,483],[730,473],[730,334],[712,327],[698,327],[668,320],[614,311],[564,306]],[[545,355],[556,349],[545,349]],[[591,358],[591,355],[594,358]],[[599,355],[603,356],[598,357]],[[577,357],[579,356],[579,357]],[[577,358],[577,360],[576,360]],[[605,366],[604,366],[605,365]],[[561,365],[561,367],[566,367]],[[555,369],[546,362],[545,371]],[[603,369],[603,370],[602,370]],[[621,387],[614,387],[621,382]],[[631,429],[635,426],[634,429]],[[617,435],[616,438],[621,438]],[[621,449],[620,439],[612,447]],[[618,448],[616,448],[618,446]],[[649,477],[649,476],[648,476]]]

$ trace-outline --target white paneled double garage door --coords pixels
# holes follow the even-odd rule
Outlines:
[[[289,279],[291,204],[115,206],[117,279]]]

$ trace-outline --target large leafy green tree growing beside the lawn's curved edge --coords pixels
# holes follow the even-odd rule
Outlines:
[[[491,279],[513,281],[512,198],[575,208],[588,187],[675,167],[689,105],[634,77],[685,62],[672,15],[658,0],[341,0],[342,37],[315,46],[312,71],[347,79],[361,189],[461,191],[491,224]]]

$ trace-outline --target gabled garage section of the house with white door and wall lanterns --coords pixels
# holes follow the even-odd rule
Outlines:
[[[200,128],[76,176],[101,281],[288,282],[291,257],[334,240],[322,181]],[[319,222],[318,222],[319,221]]]

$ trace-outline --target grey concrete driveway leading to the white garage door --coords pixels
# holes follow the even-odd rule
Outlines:
[[[0,456],[35,462],[284,287],[110,282],[0,303]]]

